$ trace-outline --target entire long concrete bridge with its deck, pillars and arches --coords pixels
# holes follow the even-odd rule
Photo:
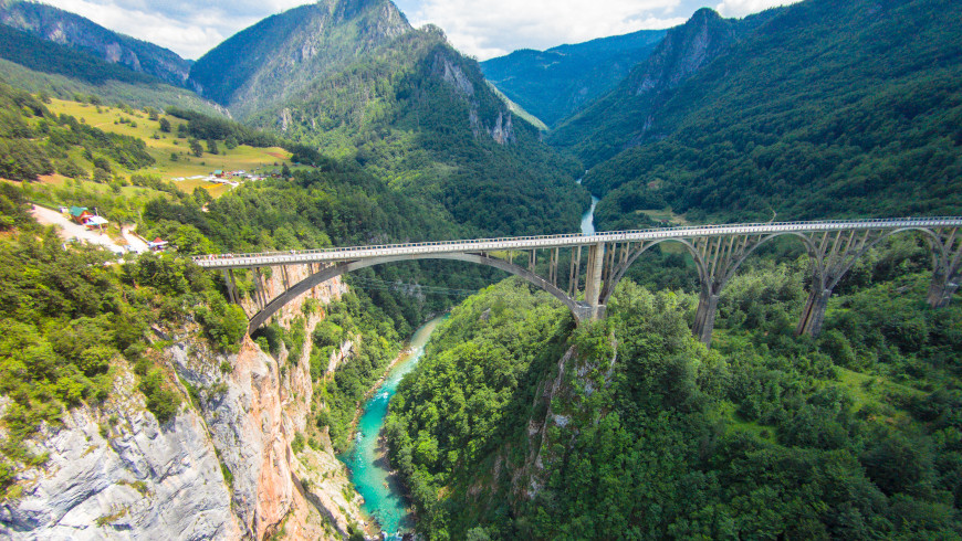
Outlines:
[[[487,265],[521,276],[557,297],[577,321],[599,319],[628,267],[647,250],[665,242],[681,244],[698,269],[700,294],[692,332],[711,342],[718,301],[724,286],[760,246],[780,236],[798,240],[812,267],[812,287],[797,333],[816,336],[822,329],[832,290],[855,262],[883,240],[918,232],[932,251],[933,276],[928,301],[949,303],[959,287],[962,258],[962,218],[899,218],[830,220],[671,229],[615,231],[595,235],[563,234],[437,241],[408,244],[335,247],[258,254],[216,254],[194,258],[199,266],[221,269],[231,301],[239,295],[233,270],[254,269],[255,304],[249,331],[263,325],[281,307],[312,287],[351,270],[398,261],[453,259]],[[307,265],[307,278],[290,285],[274,299],[264,295],[260,268]]]

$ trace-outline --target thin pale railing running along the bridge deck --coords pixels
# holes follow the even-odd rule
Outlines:
[[[959,216],[930,216],[930,218],[892,218],[892,219],[856,219],[856,220],[813,220],[804,222],[753,222],[740,224],[705,224],[705,225],[679,225],[675,227],[649,227],[645,230],[625,230],[597,233],[594,235],[584,235],[582,233],[562,233],[556,235],[527,235],[527,236],[506,236],[506,237],[490,237],[490,238],[463,238],[453,241],[424,241],[416,243],[395,243],[395,244],[369,244],[363,246],[341,246],[328,248],[311,248],[311,250],[291,250],[286,252],[259,252],[259,253],[242,253],[242,254],[211,254],[195,256],[194,261],[201,263],[220,259],[263,259],[265,257],[284,257],[305,256],[312,254],[337,254],[343,252],[357,251],[385,251],[385,250],[402,250],[414,247],[429,246],[459,246],[459,245],[487,245],[505,242],[522,242],[522,241],[567,241],[578,238],[585,243],[592,242],[610,242],[627,240],[638,235],[657,235],[657,236],[680,236],[677,234],[704,232],[703,234],[712,234],[713,231],[725,230],[728,232],[738,232],[739,230],[759,230],[765,229],[772,232],[776,231],[805,231],[818,229],[834,229],[834,225],[844,225],[846,227],[864,229],[864,227],[899,227],[899,226],[945,226],[945,225],[962,225],[962,218]],[[784,227],[790,227],[785,230]],[[846,229],[841,227],[841,229]],[[508,248],[505,248],[508,250]]]

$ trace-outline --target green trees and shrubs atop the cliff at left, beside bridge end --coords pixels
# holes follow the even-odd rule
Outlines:
[[[65,247],[53,229],[41,229],[24,212],[17,190],[2,185],[0,203],[9,212],[3,225],[15,226],[0,237],[6,498],[15,496],[8,489],[17,468],[44,459],[29,452],[25,439],[42,423],[56,426],[65,407],[105,400],[118,363],[133,367],[159,422],[176,414],[180,394],[153,360],[158,338],[151,327],[195,319],[219,349],[236,351],[247,319],[224,303],[208,274],[181,258],[144,255],[121,265],[100,247]]]

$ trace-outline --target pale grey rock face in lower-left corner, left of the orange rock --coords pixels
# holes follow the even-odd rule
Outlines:
[[[186,409],[158,425],[135,391],[117,378],[113,396],[77,407],[34,452],[42,468],[23,474],[23,496],[0,506],[8,539],[232,539],[241,524],[203,421]]]

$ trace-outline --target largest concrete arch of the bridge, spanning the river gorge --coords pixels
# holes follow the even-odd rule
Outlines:
[[[276,298],[268,303],[259,312],[254,314],[250,319],[250,325],[248,326],[248,332],[253,332],[260,326],[262,326],[268,318],[278,312],[284,305],[295,299],[296,297],[307,293],[311,288],[330,280],[331,278],[335,278],[345,273],[349,273],[352,270],[357,270],[365,267],[370,267],[375,265],[383,265],[386,263],[395,263],[402,261],[417,261],[417,259],[448,259],[448,261],[462,261],[468,263],[474,263],[478,265],[485,265],[489,267],[499,268],[501,270],[511,273],[515,276],[520,276],[527,280],[529,283],[544,289],[545,291],[552,294],[558,300],[564,303],[564,305],[572,311],[575,316],[575,319],[581,321],[590,316],[592,309],[585,304],[578,303],[572,297],[569,297],[565,291],[561,290],[557,286],[552,283],[545,280],[541,276],[532,273],[531,270],[515,265],[513,263],[506,262],[504,259],[499,259],[494,257],[489,257],[482,254],[416,254],[416,255],[395,255],[395,256],[384,256],[384,257],[373,257],[365,259],[354,259],[349,262],[338,263],[334,266],[323,268],[317,273],[312,274],[311,276],[304,278],[303,280],[294,284],[283,294],[279,295]]]

